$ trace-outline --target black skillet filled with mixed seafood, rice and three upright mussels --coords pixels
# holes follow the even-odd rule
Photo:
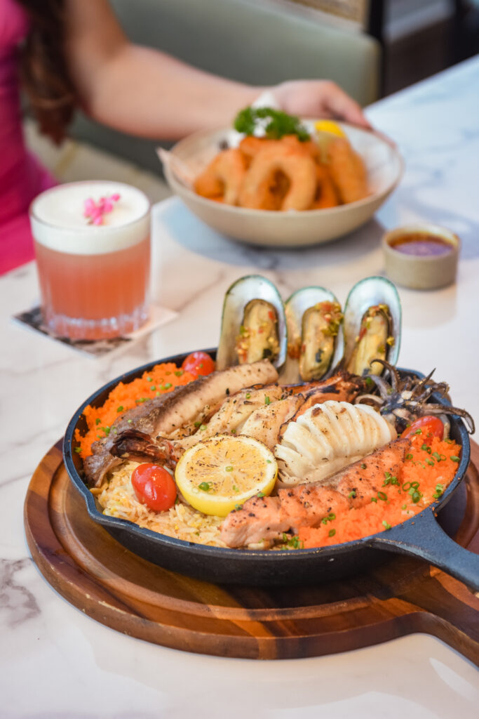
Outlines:
[[[260,275],[225,294],[217,350],[152,362],[73,416],[64,462],[96,523],[159,566],[243,585],[321,583],[386,551],[476,590],[435,515],[470,459],[445,382],[396,367],[401,304],[370,277],[344,306]]]

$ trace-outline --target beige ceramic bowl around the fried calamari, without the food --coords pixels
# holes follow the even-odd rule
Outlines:
[[[370,219],[399,183],[403,160],[396,147],[372,132],[339,123],[363,157],[371,194],[358,202],[330,209],[266,211],[223,205],[200,197],[189,186],[231,139],[231,129],[197,132],[177,142],[164,163],[167,182],[185,205],[218,232],[251,244],[301,247],[328,242],[352,232]]]

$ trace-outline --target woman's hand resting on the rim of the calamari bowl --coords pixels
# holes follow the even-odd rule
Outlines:
[[[361,106],[330,80],[293,80],[270,88],[285,112],[299,117],[327,117],[371,129]]]

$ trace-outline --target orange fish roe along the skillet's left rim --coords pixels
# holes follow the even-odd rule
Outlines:
[[[136,380],[126,384],[118,383],[101,407],[88,405],[83,410],[88,432],[82,437],[78,429],[75,431],[75,439],[80,443],[80,457],[85,459],[91,454],[93,442],[106,437],[110,433],[113,422],[126,410],[137,407],[145,400],[171,392],[176,387],[187,385],[196,379],[196,375],[185,372],[173,362],[164,362],[162,365],[155,365],[152,370],[144,372]]]

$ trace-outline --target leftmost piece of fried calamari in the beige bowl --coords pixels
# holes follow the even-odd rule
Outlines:
[[[222,150],[195,180],[195,192],[202,197],[238,203],[246,174],[246,160],[238,149]]]

